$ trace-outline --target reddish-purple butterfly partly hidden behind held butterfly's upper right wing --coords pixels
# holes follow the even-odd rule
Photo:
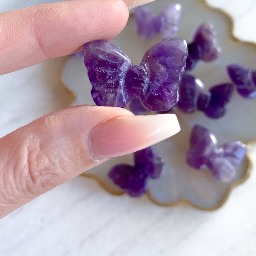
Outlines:
[[[207,62],[213,61],[218,58],[219,53],[216,32],[211,24],[204,23],[197,29],[194,41],[188,44],[186,69],[193,69],[200,59]]]

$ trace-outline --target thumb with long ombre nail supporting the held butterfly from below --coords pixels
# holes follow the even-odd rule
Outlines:
[[[180,130],[174,114],[91,105],[46,115],[0,139],[0,217],[113,156]]]

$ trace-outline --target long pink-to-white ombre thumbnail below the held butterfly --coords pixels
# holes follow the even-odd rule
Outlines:
[[[94,160],[126,155],[180,131],[175,114],[122,116],[95,126],[88,136]]]

